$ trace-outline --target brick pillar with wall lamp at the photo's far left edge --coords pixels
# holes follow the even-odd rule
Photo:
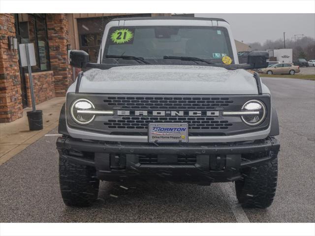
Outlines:
[[[14,15],[0,14],[0,122],[23,117],[18,50],[10,50],[8,36],[15,36]]]

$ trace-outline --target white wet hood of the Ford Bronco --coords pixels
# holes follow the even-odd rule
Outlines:
[[[257,94],[253,75],[199,65],[132,65],[84,72],[79,92],[138,94]]]

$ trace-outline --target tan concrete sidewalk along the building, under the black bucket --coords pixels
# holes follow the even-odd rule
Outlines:
[[[0,123],[0,165],[57,127],[64,102],[65,97],[56,97],[36,105],[36,110],[43,111],[43,130],[30,131],[26,113],[32,108],[24,109],[23,118]]]

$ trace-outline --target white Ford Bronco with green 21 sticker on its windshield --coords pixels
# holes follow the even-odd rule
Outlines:
[[[235,182],[243,207],[272,204],[278,118],[258,73],[268,53],[239,64],[229,24],[217,18],[119,18],[98,61],[69,87],[57,140],[63,201],[90,206],[99,180]]]

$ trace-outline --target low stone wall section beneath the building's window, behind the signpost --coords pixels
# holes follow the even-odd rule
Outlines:
[[[55,87],[54,87],[54,72],[44,71],[32,73],[33,78],[33,89],[35,104],[47,101],[55,97]],[[30,78],[29,74],[25,74],[26,89],[28,106],[32,106],[31,89],[30,89]]]

